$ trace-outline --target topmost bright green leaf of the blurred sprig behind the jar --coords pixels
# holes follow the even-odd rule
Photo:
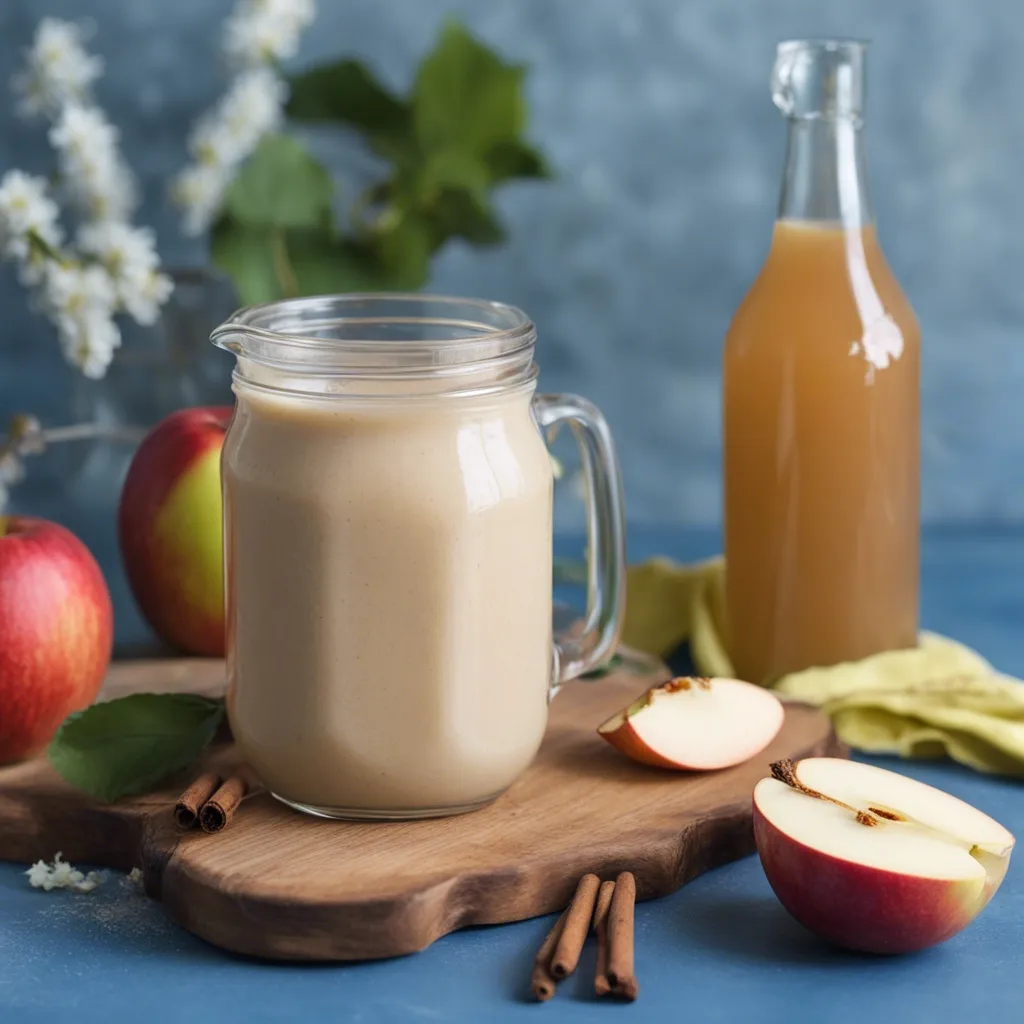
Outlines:
[[[420,65],[413,90],[416,137],[427,152],[483,156],[517,138],[525,120],[524,69],[503,61],[463,26],[449,22]]]

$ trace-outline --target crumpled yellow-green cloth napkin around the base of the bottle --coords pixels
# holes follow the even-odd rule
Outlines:
[[[624,643],[665,657],[689,642],[701,675],[733,675],[722,558],[631,566],[627,597]],[[1024,683],[946,637],[923,633],[910,650],[796,672],[773,689],[822,708],[858,750],[1024,775]]]

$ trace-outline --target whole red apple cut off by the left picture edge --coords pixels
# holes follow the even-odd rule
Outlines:
[[[63,526],[0,516],[0,765],[42,751],[92,703],[114,611],[88,548]]]

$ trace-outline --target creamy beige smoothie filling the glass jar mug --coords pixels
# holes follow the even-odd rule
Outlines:
[[[551,678],[532,386],[236,391],[228,713],[245,757],[307,808],[419,816],[497,796],[540,745]]]

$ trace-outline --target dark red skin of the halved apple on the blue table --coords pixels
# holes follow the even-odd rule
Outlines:
[[[913,878],[842,860],[776,828],[754,805],[754,837],[779,902],[805,928],[847,949],[906,953],[971,924],[997,888]]]

